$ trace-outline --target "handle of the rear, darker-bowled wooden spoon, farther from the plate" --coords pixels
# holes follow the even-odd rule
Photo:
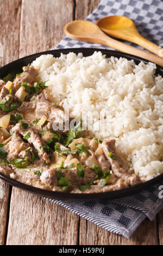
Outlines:
[[[155,53],[156,55],[163,57],[163,50],[158,45],[154,44],[153,42],[143,38],[141,35],[135,36],[133,42],[137,45],[141,45],[143,48],[146,48],[148,51]]]

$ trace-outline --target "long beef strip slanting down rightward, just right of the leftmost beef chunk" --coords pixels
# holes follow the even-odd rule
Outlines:
[[[19,132],[22,136],[26,136],[27,133],[30,133],[30,137],[27,138],[27,141],[33,145],[33,147],[38,151],[41,160],[46,163],[50,163],[49,156],[46,153],[45,149],[42,146],[47,146],[43,139],[37,134],[37,132],[31,128],[27,127],[27,129],[22,129],[22,124],[18,123],[12,128],[12,131]]]

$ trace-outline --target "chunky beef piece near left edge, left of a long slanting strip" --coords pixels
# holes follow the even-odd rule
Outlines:
[[[9,161],[21,157],[28,157],[28,160],[31,161],[32,157],[30,152],[22,151],[29,147],[29,143],[25,143],[18,135],[18,131],[15,131],[12,135],[11,141],[9,141],[9,143],[4,146],[4,150],[8,152],[7,158]],[[22,152],[24,152],[25,154],[23,154]]]

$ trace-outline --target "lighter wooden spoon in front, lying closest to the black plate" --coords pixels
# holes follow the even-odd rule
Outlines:
[[[116,50],[133,54],[163,66],[163,58],[110,38],[110,36],[102,32],[102,30],[91,21],[77,20],[67,23],[65,26],[65,33],[70,38],[107,45]]]

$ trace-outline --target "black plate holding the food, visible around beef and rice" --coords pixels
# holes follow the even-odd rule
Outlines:
[[[97,48],[71,48],[71,49],[59,49],[59,50],[53,50],[53,51],[46,51],[46,52],[40,52],[36,53],[18,60],[15,60],[14,62],[11,62],[2,68],[0,68],[0,77],[4,77],[5,75],[11,73],[11,74],[19,74],[22,71],[22,67],[26,66],[28,63],[32,63],[33,60],[35,60],[37,57],[41,56],[42,54],[53,54],[54,57],[60,57],[60,53],[67,54],[69,52],[75,52],[79,53],[82,52],[83,56],[90,56],[95,51],[101,51],[103,54],[106,54],[106,57],[114,56],[117,58],[125,57],[128,60],[134,59],[135,63],[138,64],[141,60],[148,63],[147,60],[135,57],[133,55],[117,52],[117,51],[110,51],[110,50],[102,50]],[[160,74],[163,76],[163,69],[161,66],[156,65],[156,74]],[[138,193],[142,190],[145,190],[145,188],[152,186],[156,182],[159,182],[163,179],[163,174],[160,174],[154,179],[151,179],[145,183],[125,188],[123,190],[117,190],[117,191],[110,191],[110,192],[104,192],[104,193],[90,193],[90,194],[74,194],[74,193],[65,193],[65,192],[54,192],[49,190],[42,190],[41,188],[32,187],[26,184],[23,184],[22,182],[19,182],[17,180],[9,178],[7,175],[4,175],[0,173],[0,178],[4,181],[8,182],[10,185],[21,188],[22,190],[26,190],[30,193],[37,194],[41,197],[46,198],[52,198],[52,199],[59,199],[59,200],[98,200],[98,199],[114,199],[114,198],[120,198],[120,197],[126,197],[131,196],[132,194]]]

